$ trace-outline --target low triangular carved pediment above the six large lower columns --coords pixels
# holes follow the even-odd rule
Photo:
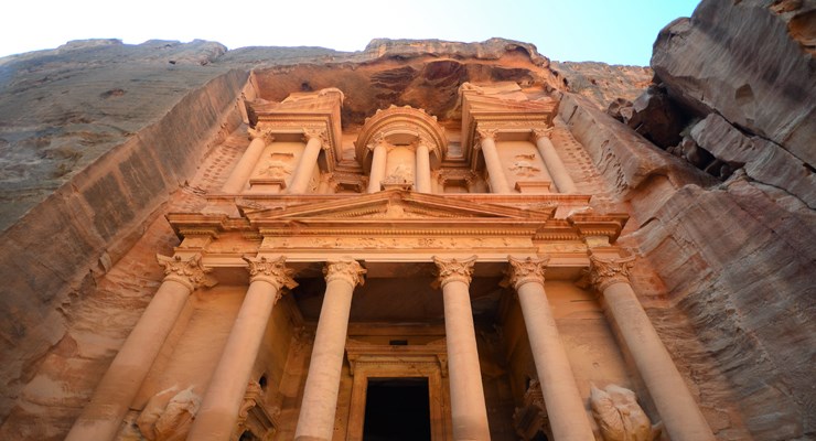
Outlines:
[[[555,209],[555,208],[554,208]],[[246,212],[250,222],[264,220],[457,220],[457,219],[518,219],[546,220],[551,211],[476,204],[451,200],[441,195],[389,190],[369,195],[343,198],[319,204],[286,208]]]

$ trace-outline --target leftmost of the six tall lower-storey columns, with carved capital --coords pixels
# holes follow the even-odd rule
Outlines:
[[[200,287],[213,287],[202,267],[201,255],[187,258],[157,255],[164,267],[164,281],[99,380],[90,402],[74,422],[66,440],[111,440],[153,365],[190,293]]]

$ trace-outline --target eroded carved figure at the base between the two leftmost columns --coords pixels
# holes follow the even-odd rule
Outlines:
[[[150,441],[182,441],[198,406],[201,397],[193,392],[193,386],[181,391],[174,386],[152,396],[136,423]]]

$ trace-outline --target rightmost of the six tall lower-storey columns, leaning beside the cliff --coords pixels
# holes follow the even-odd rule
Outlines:
[[[686,387],[629,281],[634,257],[590,256],[590,281],[603,295],[608,313],[652,395],[673,441],[713,441],[715,437]]]

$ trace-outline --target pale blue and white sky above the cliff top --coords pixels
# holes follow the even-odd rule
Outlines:
[[[41,0],[0,8],[0,56],[71,40],[217,41],[362,51],[376,37],[533,43],[555,61],[648,65],[659,30],[698,0]]]

